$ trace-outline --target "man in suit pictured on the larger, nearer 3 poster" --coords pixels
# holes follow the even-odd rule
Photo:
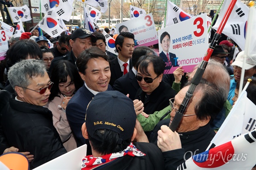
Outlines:
[[[170,48],[170,34],[168,32],[163,32],[160,37],[160,45],[163,51],[159,54],[159,56],[163,59],[165,64],[165,70],[171,69],[173,67],[177,67],[178,65],[178,57],[175,54],[169,52]]]

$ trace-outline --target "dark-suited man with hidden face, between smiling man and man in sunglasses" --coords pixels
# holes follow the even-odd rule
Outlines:
[[[125,74],[119,79],[116,79],[113,85],[113,89],[116,91],[120,91],[122,94],[125,95],[129,94],[129,98],[134,100],[135,94],[140,88],[140,85],[138,84],[135,77],[135,75],[137,74],[137,68],[135,66],[141,56],[153,54],[153,52],[154,51],[152,49],[146,46],[140,46],[135,48],[132,54],[132,65],[134,65],[133,68],[131,69],[131,71],[128,72],[128,74]]]

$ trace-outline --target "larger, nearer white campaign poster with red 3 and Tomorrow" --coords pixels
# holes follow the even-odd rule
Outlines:
[[[207,15],[202,14],[158,30],[159,56],[165,62],[164,74],[179,66],[191,72],[208,48]]]

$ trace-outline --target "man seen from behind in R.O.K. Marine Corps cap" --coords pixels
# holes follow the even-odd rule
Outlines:
[[[119,91],[96,94],[87,106],[84,138],[89,139],[93,155],[82,159],[81,170],[163,170],[164,159],[154,144],[132,143],[137,136],[134,104]]]

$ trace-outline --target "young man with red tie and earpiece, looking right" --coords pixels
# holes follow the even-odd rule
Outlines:
[[[116,79],[132,69],[131,57],[134,51],[134,34],[121,32],[116,37],[115,46],[118,56],[110,62],[111,79],[109,84],[112,86]]]

